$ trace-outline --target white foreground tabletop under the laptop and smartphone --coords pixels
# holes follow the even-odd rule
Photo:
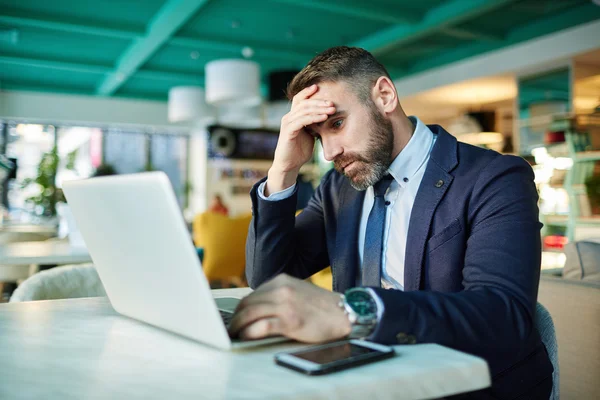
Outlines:
[[[300,346],[223,352],[122,317],[106,298],[2,304],[0,399],[425,399],[490,385],[485,361],[432,344],[321,377],[275,365]]]

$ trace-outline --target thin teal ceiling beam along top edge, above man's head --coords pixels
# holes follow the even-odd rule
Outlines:
[[[308,8],[310,10],[328,11],[347,17],[369,19],[389,24],[414,23],[421,19],[421,14],[415,11],[388,12],[377,11],[367,7],[356,7],[343,2],[329,3],[322,0],[272,0],[276,3],[291,4],[296,7]]]

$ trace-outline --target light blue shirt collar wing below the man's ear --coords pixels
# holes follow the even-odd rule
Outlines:
[[[427,162],[433,147],[433,132],[427,125],[417,117],[408,118],[415,126],[415,131],[388,168],[388,172],[400,186],[406,185]]]

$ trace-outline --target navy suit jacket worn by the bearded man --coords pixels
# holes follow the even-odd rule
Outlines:
[[[429,128],[437,141],[410,218],[404,291],[375,289],[385,312],[370,339],[478,355],[490,367],[492,398],[530,393],[552,374],[533,323],[541,258],[533,172],[520,157]],[[257,188],[246,244],[250,286],[280,273],[307,278],[328,265],[334,290],[354,286],[364,192],[332,170],[295,217],[295,196],[265,201]]]

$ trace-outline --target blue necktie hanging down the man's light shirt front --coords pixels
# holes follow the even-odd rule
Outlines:
[[[367,220],[365,249],[363,252],[362,286],[381,286],[383,257],[383,229],[385,227],[385,192],[394,178],[384,176],[374,186],[375,199]]]

